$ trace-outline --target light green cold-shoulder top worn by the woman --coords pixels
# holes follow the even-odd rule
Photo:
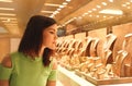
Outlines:
[[[41,57],[33,60],[14,52],[11,61],[11,69],[0,64],[0,79],[9,79],[10,86],[46,86],[47,81],[56,81],[56,70],[52,70],[52,62],[44,66]]]

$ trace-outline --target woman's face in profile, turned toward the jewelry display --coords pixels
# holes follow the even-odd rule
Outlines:
[[[56,48],[57,24],[54,24],[43,30],[43,46],[50,49]]]

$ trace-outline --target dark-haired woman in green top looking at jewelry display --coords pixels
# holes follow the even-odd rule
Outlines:
[[[19,50],[7,56],[0,64],[0,86],[55,86],[57,64],[51,56],[56,32],[53,19],[32,16]]]

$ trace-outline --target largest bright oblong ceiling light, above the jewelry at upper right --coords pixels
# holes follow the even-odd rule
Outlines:
[[[121,10],[110,10],[110,9],[101,10],[101,11],[99,11],[99,13],[116,14],[116,15],[122,15],[123,14],[123,12]]]

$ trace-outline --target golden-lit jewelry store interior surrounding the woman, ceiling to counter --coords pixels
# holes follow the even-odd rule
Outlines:
[[[0,0],[0,62],[36,14],[58,23],[57,86],[132,85],[132,0]]]

